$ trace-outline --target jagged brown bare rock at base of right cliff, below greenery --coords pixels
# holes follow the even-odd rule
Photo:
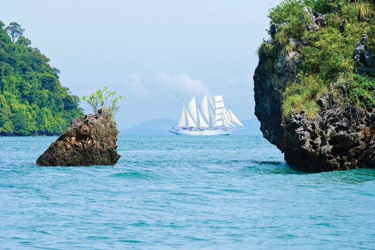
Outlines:
[[[319,117],[319,116],[318,116]],[[294,113],[282,124],[285,160],[309,172],[375,166],[375,123],[342,117],[321,125],[304,113]]]

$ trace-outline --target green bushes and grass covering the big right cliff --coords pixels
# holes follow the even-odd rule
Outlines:
[[[307,6],[312,13],[326,14],[318,31],[306,29],[312,23],[304,10]],[[303,56],[299,79],[283,91],[284,116],[305,110],[313,118],[319,111],[326,112],[316,103],[323,92],[329,92],[339,106],[335,115],[364,113],[375,107],[375,75],[359,75],[354,60],[355,47],[365,34],[368,49],[375,52],[374,0],[284,0],[269,10],[268,17],[270,23],[279,24],[278,32],[258,49],[269,58],[268,67],[278,49],[293,49],[289,37],[307,44],[299,51]]]

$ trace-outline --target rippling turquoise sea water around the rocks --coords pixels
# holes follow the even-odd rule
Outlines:
[[[115,166],[39,167],[0,137],[0,248],[373,249],[375,170],[307,174],[256,136],[120,136]]]

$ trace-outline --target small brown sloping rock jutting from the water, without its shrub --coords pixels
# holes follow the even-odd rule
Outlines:
[[[73,119],[70,126],[39,156],[41,166],[114,165],[119,159],[116,123],[106,111]]]

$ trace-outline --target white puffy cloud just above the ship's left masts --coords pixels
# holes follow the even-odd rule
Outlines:
[[[200,91],[204,88],[200,80],[192,79],[188,74],[185,73],[167,74],[165,72],[161,72],[156,78],[158,81],[160,81],[160,87],[166,89],[194,92]]]

